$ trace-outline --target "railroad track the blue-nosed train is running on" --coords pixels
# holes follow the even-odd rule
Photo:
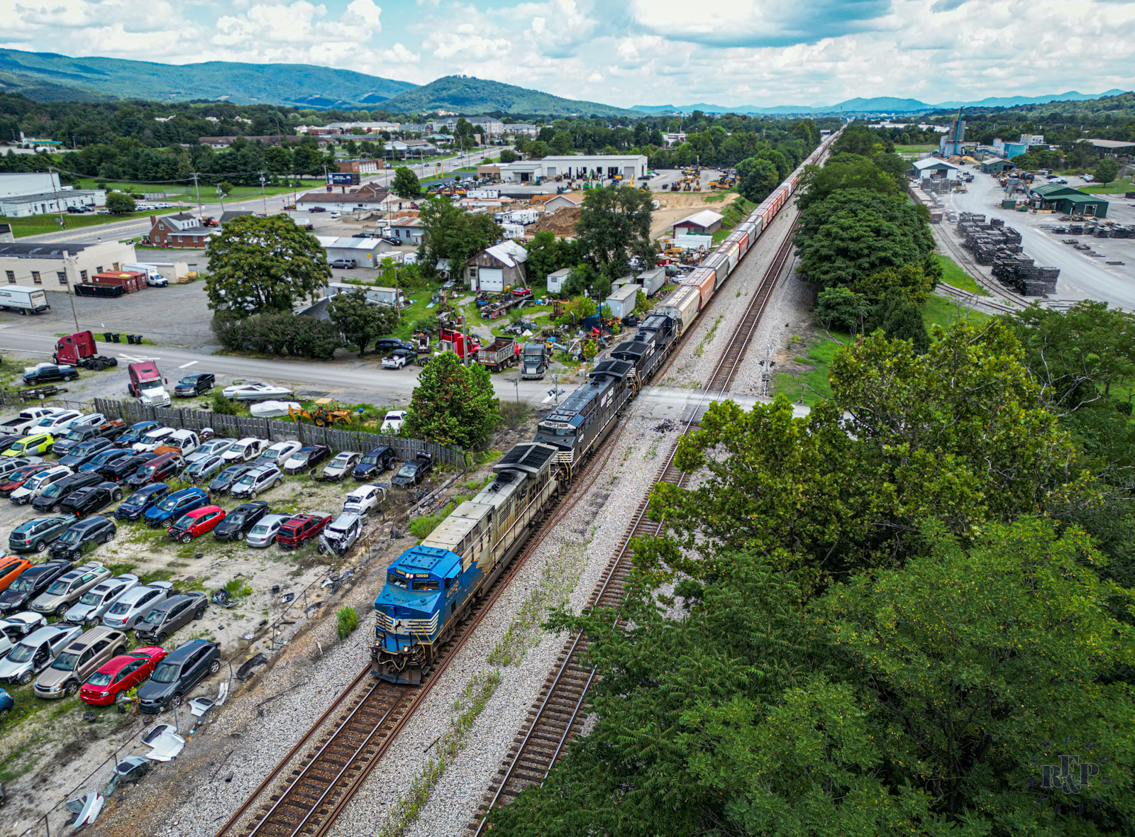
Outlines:
[[[622,425],[625,428],[625,423]],[[422,704],[465,640],[507,589],[552,530],[571,511],[602,472],[622,428],[573,481],[564,502],[532,531],[508,572],[457,626],[438,666],[419,687],[370,682],[370,663],[304,734],[217,832],[217,837],[321,837],[326,835]],[[338,718],[335,718],[338,713]]]

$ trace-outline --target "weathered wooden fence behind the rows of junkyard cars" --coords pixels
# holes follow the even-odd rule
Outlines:
[[[400,459],[413,459],[424,450],[434,457],[437,464],[461,465],[462,451],[459,448],[447,448],[437,442],[421,439],[403,439],[397,436],[381,433],[362,433],[342,428],[317,428],[296,421],[277,421],[274,418],[255,418],[239,415],[222,415],[205,409],[182,409],[177,407],[152,407],[137,401],[115,401],[107,398],[95,398],[94,408],[108,418],[121,418],[127,424],[144,421],[158,421],[168,428],[201,430],[212,428],[217,436],[229,439],[255,437],[278,441],[299,441],[303,445],[322,442],[333,450],[356,450],[361,454],[371,448],[389,445]]]

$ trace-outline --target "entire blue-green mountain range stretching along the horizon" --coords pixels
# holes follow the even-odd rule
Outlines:
[[[304,64],[239,64],[205,61],[169,65],[120,58],[70,58],[53,52],[0,49],[0,92],[22,93],[36,101],[154,102],[221,100],[236,104],[280,104],[294,108],[387,110],[392,113],[451,111],[515,113],[540,117],[640,117],[644,113],[910,113],[958,107],[1004,108],[1052,101],[1087,101],[1121,93],[1076,91],[1048,96],[1002,96],[980,101],[927,103],[917,99],[848,99],[836,104],[722,107],[699,102],[616,108],[599,102],[562,99],[527,87],[472,76],[444,76],[426,85],[364,73]]]

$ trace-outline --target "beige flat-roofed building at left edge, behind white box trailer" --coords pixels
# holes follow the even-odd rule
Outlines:
[[[0,244],[0,284],[69,293],[95,273],[137,262],[133,244]]]

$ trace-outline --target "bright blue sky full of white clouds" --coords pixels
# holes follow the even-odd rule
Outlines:
[[[0,44],[466,74],[611,104],[1135,88],[1135,0],[0,0]]]

